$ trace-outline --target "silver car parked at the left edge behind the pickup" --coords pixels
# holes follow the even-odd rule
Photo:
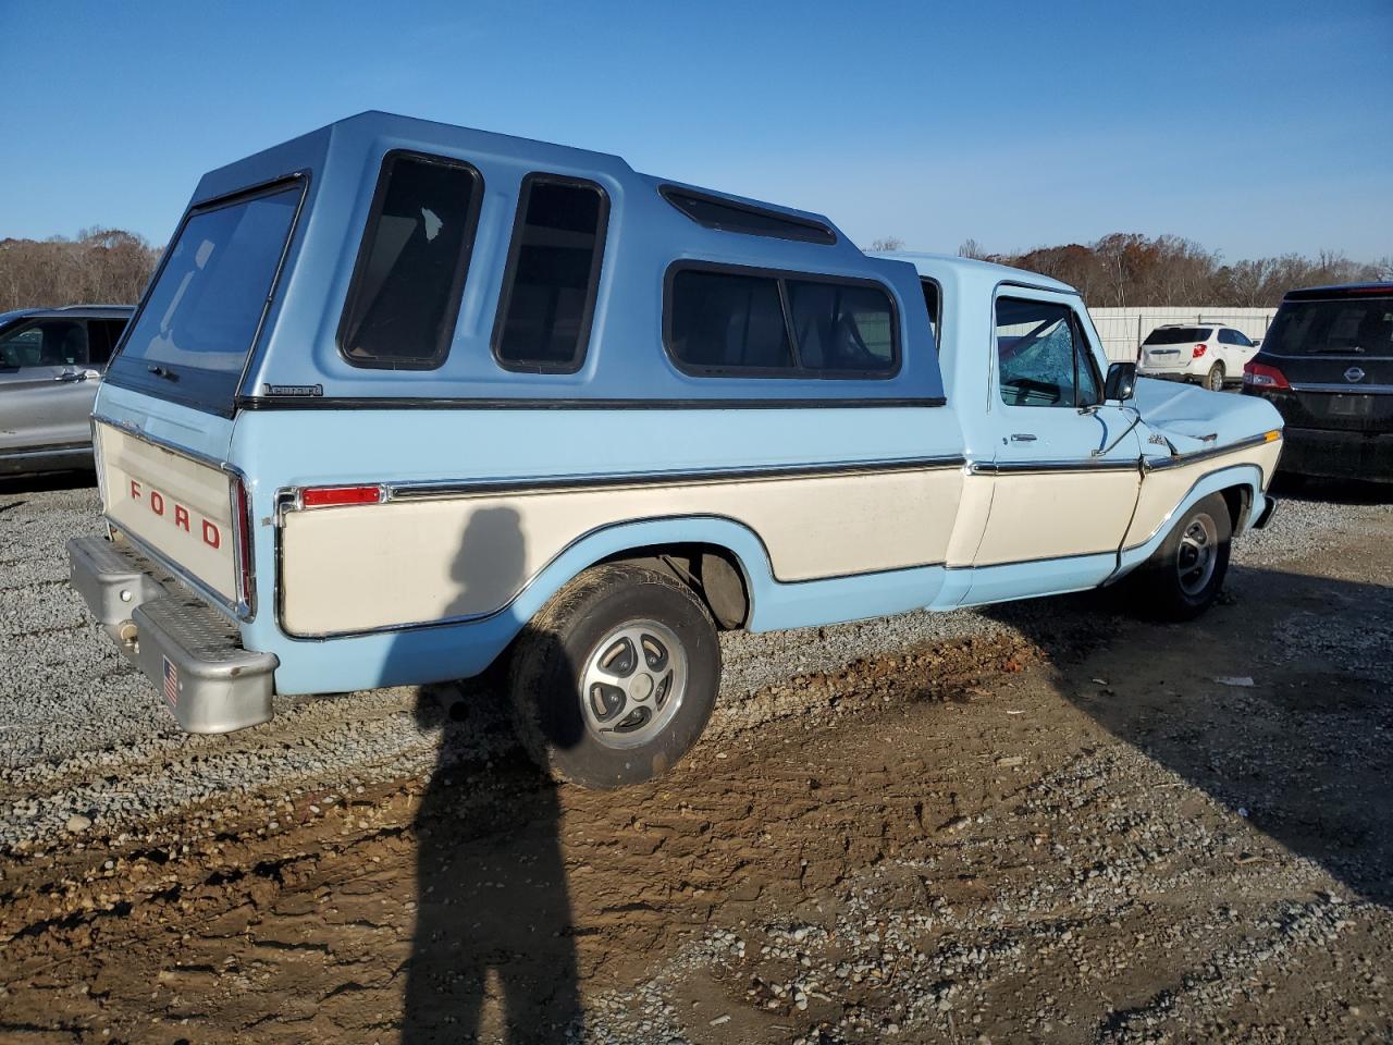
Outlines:
[[[134,311],[0,312],[0,475],[92,467],[92,400]]]

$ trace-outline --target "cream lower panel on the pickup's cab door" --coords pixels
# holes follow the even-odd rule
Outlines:
[[[975,566],[1116,552],[1139,481],[1135,471],[997,475]]]

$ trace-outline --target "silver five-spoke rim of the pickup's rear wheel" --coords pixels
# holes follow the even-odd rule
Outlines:
[[[585,729],[606,747],[634,748],[667,729],[687,695],[687,651],[656,620],[612,628],[581,672]]]

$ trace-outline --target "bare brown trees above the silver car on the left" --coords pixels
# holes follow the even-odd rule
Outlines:
[[[159,248],[121,229],[84,229],[71,240],[0,240],[0,312],[134,304],[159,259]]]

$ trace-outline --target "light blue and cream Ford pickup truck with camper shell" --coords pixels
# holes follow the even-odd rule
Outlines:
[[[508,655],[598,787],[696,741],[722,628],[1128,575],[1199,613],[1282,444],[1109,368],[1063,283],[382,113],[203,177],[93,429],[72,582],[185,729]]]

